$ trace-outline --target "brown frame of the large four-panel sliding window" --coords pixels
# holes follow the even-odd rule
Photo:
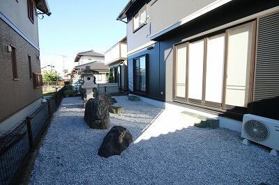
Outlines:
[[[241,107],[241,106],[230,106],[225,104],[225,97],[226,97],[226,92],[225,92],[225,87],[226,87],[226,76],[227,76],[227,54],[228,54],[228,38],[229,38],[229,30],[232,29],[239,29],[243,26],[246,26],[250,24],[252,28],[251,32],[251,53],[250,53],[250,78],[249,78],[249,89],[248,89],[248,105],[247,107]],[[243,113],[243,112],[250,112],[252,110],[251,102],[252,102],[252,95],[253,95],[253,83],[254,83],[254,76],[255,76],[255,48],[256,48],[256,29],[257,29],[257,22],[255,19],[252,19],[248,22],[244,22],[241,24],[237,24],[234,26],[227,27],[225,29],[215,31],[213,33],[209,33],[206,35],[199,36],[194,39],[186,40],[183,42],[178,42],[173,45],[173,51],[174,51],[174,63],[173,63],[173,95],[172,95],[172,101],[173,102],[178,102],[182,104],[187,104],[190,106],[198,106],[201,108],[207,108],[211,109],[213,111],[232,111],[236,113]],[[222,103],[217,103],[217,102],[206,102],[205,101],[205,88],[206,88],[206,55],[207,55],[207,42],[208,38],[219,35],[219,34],[224,34],[225,33],[225,53],[224,53],[224,68],[223,68],[223,93],[222,93]],[[204,61],[203,61],[203,88],[202,88],[202,102],[200,101],[189,101],[188,98],[188,80],[189,80],[189,45],[190,42],[195,42],[197,40],[204,40]],[[186,57],[186,96],[184,99],[179,99],[176,97],[176,49],[179,45],[185,45],[187,47],[187,57]]]

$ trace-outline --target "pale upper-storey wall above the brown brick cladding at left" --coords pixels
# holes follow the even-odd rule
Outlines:
[[[0,12],[13,22],[35,45],[39,45],[38,40],[38,19],[34,13],[34,24],[28,17],[27,0],[1,0]],[[34,9],[35,12],[35,9]]]

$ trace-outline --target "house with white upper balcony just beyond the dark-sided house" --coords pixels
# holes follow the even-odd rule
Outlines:
[[[110,72],[114,75],[114,83],[118,83],[122,90],[128,90],[126,37],[105,52],[105,65],[109,65]]]

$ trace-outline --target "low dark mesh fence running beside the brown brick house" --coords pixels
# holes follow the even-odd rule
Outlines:
[[[13,131],[0,137],[0,184],[11,184],[25,156],[38,144],[48,121],[62,101],[63,90],[61,88]]]

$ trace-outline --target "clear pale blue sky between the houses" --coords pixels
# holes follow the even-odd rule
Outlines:
[[[74,59],[78,52],[93,49],[104,53],[126,36],[126,24],[116,17],[128,0],[47,2],[52,15],[38,19],[41,67],[53,65],[63,74],[63,59],[70,71],[77,65]]]

